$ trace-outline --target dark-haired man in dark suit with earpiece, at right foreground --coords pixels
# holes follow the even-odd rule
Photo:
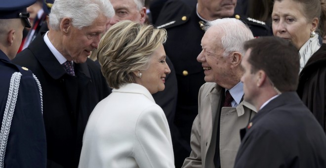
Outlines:
[[[296,47],[269,37],[244,48],[244,100],[258,113],[241,130],[235,168],[326,168],[326,135],[296,93]]]

